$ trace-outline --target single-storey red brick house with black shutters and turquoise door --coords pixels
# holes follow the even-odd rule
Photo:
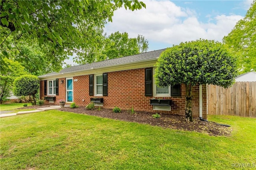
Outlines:
[[[184,115],[185,86],[156,87],[154,65],[165,49],[77,65],[39,76],[40,99],[58,105],[58,100],[86,106],[95,105],[113,109],[134,108]],[[194,117],[207,116],[206,85],[196,85],[193,90]]]

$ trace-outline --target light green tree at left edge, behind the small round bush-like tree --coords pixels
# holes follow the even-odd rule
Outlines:
[[[24,67],[16,61],[10,59],[3,59],[8,65],[2,65],[0,74],[0,101],[6,101],[10,97],[12,91],[12,83],[16,77],[26,74]],[[3,72],[2,70],[5,70]]]

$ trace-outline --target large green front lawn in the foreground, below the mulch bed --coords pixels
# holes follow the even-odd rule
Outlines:
[[[256,119],[208,119],[232,125],[232,136],[58,110],[1,118],[1,169],[219,170],[256,163]]]

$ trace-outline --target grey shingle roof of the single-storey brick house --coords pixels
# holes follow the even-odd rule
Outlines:
[[[105,61],[99,61],[95,63],[90,63],[90,64],[83,64],[83,65],[76,65],[72,67],[68,67],[65,69],[60,70],[60,72],[52,72],[48,73],[45,75],[40,75],[38,77],[46,77],[54,74],[59,74],[59,73],[69,73],[69,72],[76,72],[76,71],[82,71],[86,69],[91,69],[91,68],[100,68],[100,67],[107,67],[107,66],[114,66],[114,65],[120,65],[120,64],[125,64],[125,63],[134,63],[134,62],[139,62],[139,61],[144,61],[144,60],[150,60],[150,59],[157,59],[162,51],[165,49],[159,49],[156,51],[149,51],[145,53],[140,53],[140,54],[135,54],[135,55],[130,55],[126,57],[120,57],[120,58],[115,58],[115,59],[109,59]]]

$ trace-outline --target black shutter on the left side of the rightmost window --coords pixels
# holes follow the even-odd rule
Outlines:
[[[153,69],[145,69],[145,96],[153,96]]]

